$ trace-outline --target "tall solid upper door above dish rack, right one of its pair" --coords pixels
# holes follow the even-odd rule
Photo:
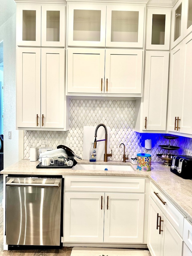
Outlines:
[[[41,49],[41,127],[64,128],[64,49]]]

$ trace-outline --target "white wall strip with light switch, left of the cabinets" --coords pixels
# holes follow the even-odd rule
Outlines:
[[[16,130],[16,4],[10,0],[6,3],[9,5],[8,10],[14,14],[0,27],[0,41],[3,40],[4,47],[4,168],[21,158],[20,132]],[[0,24],[2,13],[1,9]],[[9,131],[11,139],[8,138]]]

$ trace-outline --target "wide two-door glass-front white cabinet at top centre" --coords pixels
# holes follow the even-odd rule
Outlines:
[[[143,47],[144,5],[69,2],[67,8],[68,46]]]

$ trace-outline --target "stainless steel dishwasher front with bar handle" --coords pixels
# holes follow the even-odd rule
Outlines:
[[[60,245],[61,180],[7,177],[8,245]]]

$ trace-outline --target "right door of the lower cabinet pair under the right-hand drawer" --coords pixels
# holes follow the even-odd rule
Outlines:
[[[161,230],[162,241],[160,256],[181,256],[183,240],[167,218],[165,218],[164,214],[162,216]]]

